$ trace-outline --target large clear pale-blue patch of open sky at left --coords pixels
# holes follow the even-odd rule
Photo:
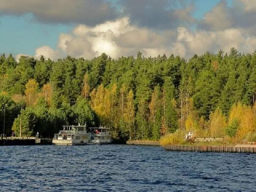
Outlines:
[[[60,33],[67,33],[72,27],[72,24],[37,22],[31,14],[3,15],[0,18],[0,53],[34,55],[41,45],[56,49]]]

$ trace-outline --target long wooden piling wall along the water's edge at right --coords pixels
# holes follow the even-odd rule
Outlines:
[[[217,153],[256,153],[256,145],[236,145],[236,146],[176,146],[164,147],[166,151],[185,152],[217,152]]]

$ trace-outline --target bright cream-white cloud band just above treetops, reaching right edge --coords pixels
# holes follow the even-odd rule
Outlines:
[[[209,31],[178,27],[176,30],[155,31],[132,25],[129,18],[125,17],[95,27],[78,25],[72,33],[60,34],[57,50],[42,46],[36,50],[36,57],[44,55],[56,59],[68,54],[91,59],[105,52],[117,58],[135,56],[141,51],[144,56],[168,56],[173,53],[189,58],[206,51],[218,52],[223,49],[229,52],[231,47],[241,52],[254,52],[256,36],[248,36],[247,30],[242,28]]]

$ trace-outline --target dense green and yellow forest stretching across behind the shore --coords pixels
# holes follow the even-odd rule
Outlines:
[[[8,136],[19,136],[21,126],[23,136],[52,137],[62,125],[86,123],[109,127],[116,139],[193,131],[253,140],[255,103],[256,52],[232,48],[189,60],[141,52],[57,61],[0,56],[0,130]]]

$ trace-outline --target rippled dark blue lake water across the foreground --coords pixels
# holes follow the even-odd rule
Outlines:
[[[0,191],[256,191],[256,154],[0,146]]]

